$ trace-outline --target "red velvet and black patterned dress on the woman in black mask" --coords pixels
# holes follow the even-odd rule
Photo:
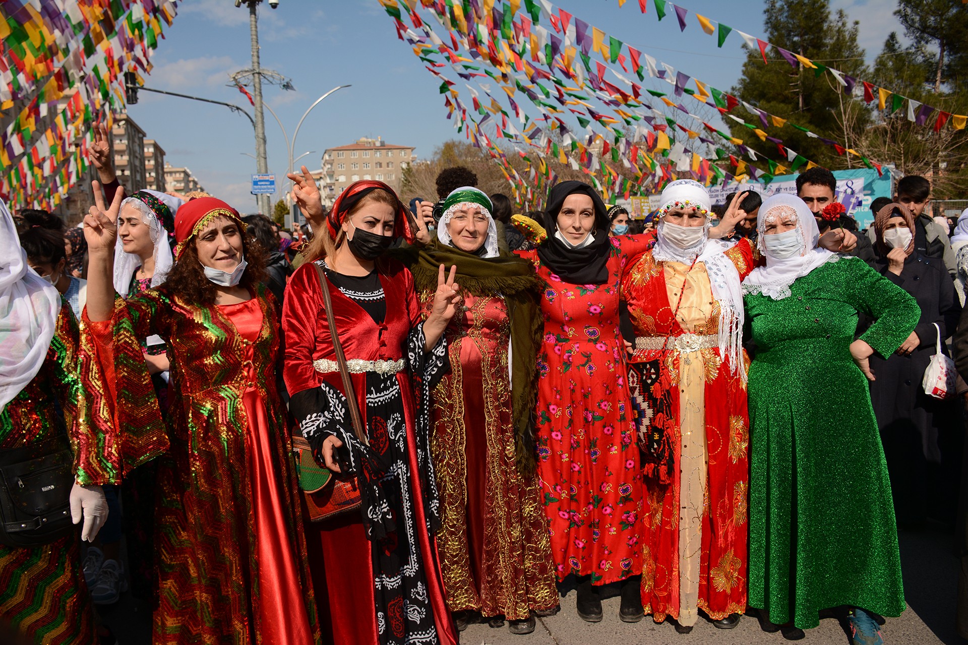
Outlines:
[[[319,616],[331,630],[324,640],[456,643],[431,533],[439,519],[425,412],[429,387],[446,367],[446,343],[441,339],[425,356],[413,278],[403,265],[381,264],[358,279],[327,274],[332,312],[324,307],[312,263],[289,280],[283,310],[290,410],[319,463],[325,437],[344,442],[341,454],[363,496],[359,512],[305,522]],[[406,363],[382,373],[351,368],[351,404],[358,406],[369,447],[352,436],[326,322],[330,313],[348,362]],[[333,363],[314,366],[319,361]],[[425,377],[428,387],[421,385]]]

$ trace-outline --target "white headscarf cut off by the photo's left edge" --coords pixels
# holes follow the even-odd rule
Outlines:
[[[41,370],[61,295],[27,266],[14,218],[0,200],[0,413]]]

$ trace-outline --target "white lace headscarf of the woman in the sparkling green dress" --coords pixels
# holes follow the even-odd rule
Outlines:
[[[801,254],[785,259],[771,257],[763,245],[767,222],[790,212],[797,216],[797,228],[801,235]],[[792,194],[779,192],[768,197],[760,206],[756,230],[757,246],[766,256],[767,266],[754,269],[742,281],[744,293],[762,293],[773,300],[783,300],[790,295],[790,285],[795,279],[802,278],[826,262],[832,262],[840,257],[827,249],[817,248],[817,242],[820,240],[817,220],[803,200]]]

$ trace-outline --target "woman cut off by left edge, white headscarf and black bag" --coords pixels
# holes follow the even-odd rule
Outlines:
[[[0,463],[27,483],[14,495],[31,493],[40,500],[16,505],[13,516],[7,513],[14,505],[4,504],[0,580],[6,582],[0,584],[0,616],[26,642],[95,639],[90,601],[78,593],[83,589],[80,541],[94,540],[104,524],[101,484],[116,481],[119,473],[104,453],[115,445],[116,438],[105,436],[111,428],[80,421],[91,407],[89,399],[99,393],[93,380],[85,382],[89,387],[80,384],[77,344],[74,313],[54,285],[27,265],[14,220],[0,201]],[[38,490],[40,465],[49,471],[65,454],[73,454],[73,487],[61,489],[57,479],[47,479],[43,484],[53,490]],[[65,510],[60,504],[48,507],[55,500],[42,499],[45,494],[69,502],[74,522],[83,518],[83,529],[66,523],[54,531]],[[4,495],[11,501],[10,493]]]

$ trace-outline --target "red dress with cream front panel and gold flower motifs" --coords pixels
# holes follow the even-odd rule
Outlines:
[[[740,280],[754,268],[743,239],[725,252]],[[729,266],[727,264],[727,266]],[[658,262],[651,251],[625,274],[622,299],[636,337],[715,337],[720,305],[705,263]],[[748,359],[745,359],[748,366]],[[749,416],[740,371],[718,346],[694,351],[637,349],[629,385],[640,442],[664,436],[662,456],[644,458],[642,601],[655,622],[693,625],[746,605]],[[648,450],[645,449],[644,450]],[[666,482],[657,463],[668,463]]]

